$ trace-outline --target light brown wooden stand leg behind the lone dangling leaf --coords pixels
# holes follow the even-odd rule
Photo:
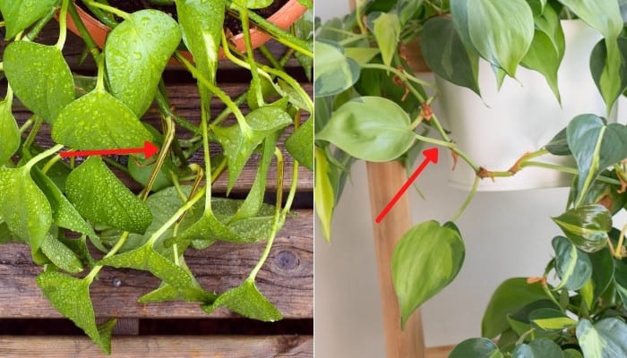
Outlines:
[[[398,192],[407,175],[400,162],[367,163],[370,207],[373,223],[381,210]],[[374,250],[379,271],[379,289],[382,299],[383,330],[388,358],[425,357],[420,311],[415,311],[400,329],[399,301],[391,281],[391,257],[394,245],[400,236],[411,227],[407,195],[396,203],[394,208],[379,224],[374,224]]]

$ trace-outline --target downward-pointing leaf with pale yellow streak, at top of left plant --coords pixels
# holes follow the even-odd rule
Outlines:
[[[176,1],[185,46],[192,53],[196,68],[210,82],[216,80],[226,3],[226,0]]]

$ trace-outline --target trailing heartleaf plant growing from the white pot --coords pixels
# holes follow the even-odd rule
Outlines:
[[[604,36],[590,54],[590,68],[581,71],[590,72],[609,112],[627,88],[621,4],[361,1],[343,19],[316,30],[315,205],[327,238],[356,159],[400,160],[411,167],[428,144],[450,150],[456,165],[461,161],[476,173],[475,186],[451,221],[418,224],[397,243],[391,278],[401,327],[459,273],[465,248],[455,221],[479,180],[506,180],[501,177],[528,166],[573,175],[565,212],[553,217],[563,235],[552,241],[554,259],[544,274],[504,282],[485,311],[483,337],[464,341],[451,357],[627,355],[627,226],[613,228],[613,216],[627,199],[627,128],[598,115],[577,115],[544,147],[520,153],[511,168],[486,168],[451,141],[431,107],[437,89],[410,71],[412,54],[404,45],[420,37],[435,74],[477,95],[483,58],[498,82],[514,77],[520,65],[541,72],[559,100],[556,75],[564,50],[559,20],[579,17]],[[548,154],[571,156],[576,166],[543,162]]]

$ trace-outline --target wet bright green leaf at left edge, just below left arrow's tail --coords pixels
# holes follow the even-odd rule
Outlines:
[[[0,167],[0,217],[31,251],[39,250],[52,225],[52,209],[28,167]]]

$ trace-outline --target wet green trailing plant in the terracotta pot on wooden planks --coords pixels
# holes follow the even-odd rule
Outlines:
[[[5,39],[10,40],[2,61],[8,85],[0,102],[0,242],[30,245],[32,260],[43,266],[37,277],[43,294],[107,353],[116,320],[97,325],[90,298],[90,285],[105,267],[150,271],[162,280],[140,303],[183,299],[208,313],[224,306],[256,320],[281,319],[255,286],[255,277],[288,216],[298,166],[313,166],[313,123],[301,124],[301,115],[313,113],[314,104],[283,70],[295,54],[311,70],[313,21],[309,12],[292,30],[279,30],[252,12],[269,3],[176,1],[176,21],[157,10],[125,13],[107,2],[84,1],[115,26],[100,51],[69,0],[0,1]],[[68,13],[98,66],[93,81],[71,72],[62,55]],[[231,48],[223,29],[225,13],[241,19],[246,53]],[[56,44],[38,43],[39,32],[55,16]],[[262,51],[270,64],[258,63],[247,33],[253,25],[285,44],[285,55],[277,59]],[[193,62],[179,52],[183,46]],[[251,72],[251,85],[238,98],[230,98],[216,81],[220,48],[229,61]],[[169,105],[161,76],[172,57],[198,82],[200,125]],[[213,98],[226,106],[215,116],[210,113]],[[17,99],[32,112],[21,125],[12,110]],[[153,101],[159,127],[142,122]],[[245,103],[251,109],[247,114],[240,108]],[[44,126],[50,128],[52,148],[35,144]],[[288,128],[294,132],[285,147],[296,160],[283,198],[285,160],[279,142]],[[191,135],[184,140],[176,135],[180,129]],[[133,155],[127,165],[106,157],[60,156],[67,150],[137,148],[145,142],[157,145],[159,155]],[[210,143],[219,150],[210,150]],[[202,165],[190,162],[199,149]],[[254,153],[260,159],[245,200],[212,195],[211,184],[220,175],[228,175],[230,191]],[[269,205],[263,197],[273,158],[278,190],[276,205]],[[142,191],[131,192],[110,166],[141,183]],[[186,251],[210,249],[217,241],[267,242],[244,282],[222,293],[203,288],[185,265]],[[101,253],[92,256],[94,248]]]

